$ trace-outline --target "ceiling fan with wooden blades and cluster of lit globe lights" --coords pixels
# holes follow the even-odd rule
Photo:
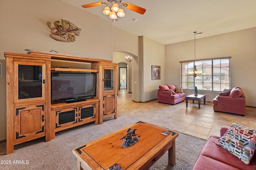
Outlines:
[[[107,0],[107,2],[101,1],[101,2],[96,2],[96,3],[92,3],[92,4],[82,5],[82,7],[90,8],[90,7],[94,7],[94,6],[106,5],[105,9],[103,10],[103,13],[105,15],[109,15],[109,17],[112,19],[112,21],[118,21],[117,16],[123,17],[125,15],[122,7],[127,8],[128,10],[137,12],[139,14],[144,14],[146,12],[146,9],[144,9],[144,8],[130,4],[128,2],[122,2],[122,1],[123,0]],[[110,8],[109,6],[112,6],[112,7]]]

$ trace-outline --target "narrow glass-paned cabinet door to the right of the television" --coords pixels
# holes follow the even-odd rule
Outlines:
[[[114,69],[104,68],[104,89],[103,91],[114,90]]]

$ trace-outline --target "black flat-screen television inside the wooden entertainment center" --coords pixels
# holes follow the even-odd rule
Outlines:
[[[52,72],[52,103],[76,102],[96,96],[96,73]]]

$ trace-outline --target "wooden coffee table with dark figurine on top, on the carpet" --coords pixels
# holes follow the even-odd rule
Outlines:
[[[121,146],[124,139],[120,140],[120,138],[126,135],[129,128],[137,129],[139,141],[133,146],[124,148]],[[162,131],[170,133],[164,135]],[[149,123],[141,121],[134,123],[74,149],[77,169],[108,170],[110,166],[117,163],[123,170],[144,170],[150,168],[167,150],[168,163],[174,166],[176,164],[175,139],[178,135],[175,131]]]

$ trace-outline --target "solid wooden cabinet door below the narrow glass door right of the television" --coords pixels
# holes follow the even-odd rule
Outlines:
[[[115,95],[103,96],[103,117],[112,113],[115,113]]]

